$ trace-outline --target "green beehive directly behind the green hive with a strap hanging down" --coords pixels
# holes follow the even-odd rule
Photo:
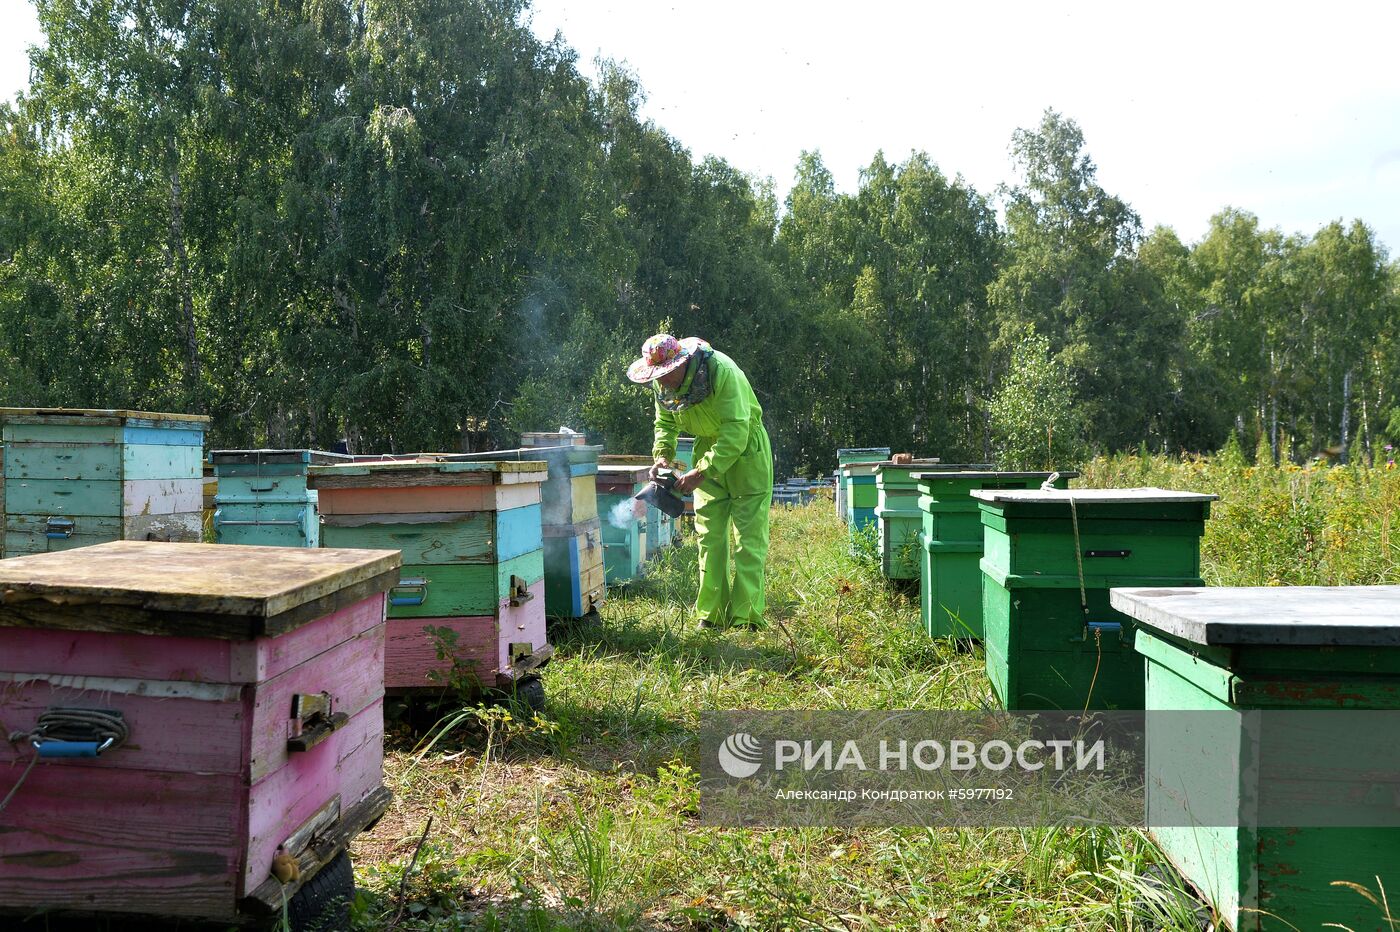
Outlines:
[[[1079,473],[1054,473],[1057,488]],[[981,514],[974,488],[1037,488],[1051,473],[998,473],[984,466],[916,472],[920,617],[934,638],[977,638],[981,630]]]

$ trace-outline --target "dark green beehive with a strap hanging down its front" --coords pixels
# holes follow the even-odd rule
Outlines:
[[[1008,709],[1142,708],[1112,586],[1201,584],[1215,495],[1165,488],[973,490],[987,676]]]

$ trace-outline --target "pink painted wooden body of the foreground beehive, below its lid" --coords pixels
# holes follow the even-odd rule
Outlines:
[[[0,628],[0,730],[56,705],[118,708],[132,729],[34,768],[0,814],[0,910],[235,918],[283,840],[382,784],[384,609],[377,593],[248,642]],[[288,753],[293,694],[322,691],[349,723]],[[27,751],[0,742],[0,796]]]

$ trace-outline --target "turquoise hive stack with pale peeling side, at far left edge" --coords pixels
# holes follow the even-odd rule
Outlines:
[[[207,417],[0,409],[3,554],[199,540]]]

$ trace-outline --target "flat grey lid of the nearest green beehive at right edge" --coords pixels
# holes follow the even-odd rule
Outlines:
[[[1400,586],[1112,589],[1109,605],[1191,644],[1400,647]]]

